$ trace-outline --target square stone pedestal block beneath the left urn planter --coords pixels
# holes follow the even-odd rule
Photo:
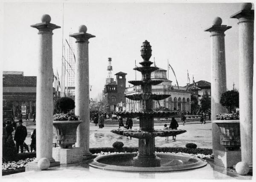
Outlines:
[[[81,148],[52,148],[52,156],[61,164],[82,162]]]

